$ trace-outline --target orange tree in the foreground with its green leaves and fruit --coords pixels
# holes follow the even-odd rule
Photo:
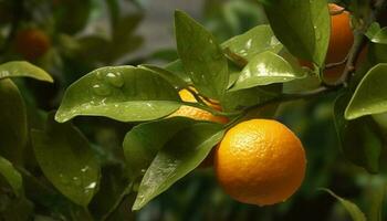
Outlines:
[[[218,181],[232,198],[259,206],[280,203],[302,183],[310,147],[304,151],[302,140],[273,119],[278,107],[328,95],[335,96],[332,117],[345,157],[369,173],[385,171],[387,28],[377,21],[387,12],[386,1],[336,2],[352,14],[353,43],[343,61],[334,63],[327,52],[332,34],[337,33],[331,32],[325,0],[260,3],[269,24],[222,43],[187,13],[176,11],[178,60],[165,66],[96,69],[71,84],[57,110],[48,114],[27,114],[30,110],[10,78],[52,83],[50,74],[27,62],[2,64],[0,173],[8,210],[1,218],[14,220],[14,211],[20,210],[25,215],[18,219],[28,220],[36,207],[36,214],[70,220],[121,220],[122,211],[140,210],[174,188],[211,150]],[[92,42],[101,45],[100,40]],[[107,51],[93,62],[115,60],[109,52],[119,49],[108,48],[114,44],[106,43]],[[366,59],[355,66],[365,46]],[[301,66],[300,60],[313,69]],[[327,81],[324,72],[343,64],[339,76]],[[185,98],[181,92],[194,97]],[[185,114],[186,108],[206,117]],[[124,159],[121,169],[109,172],[112,161],[96,157],[97,149],[72,123],[85,116],[136,125],[123,137],[117,154]],[[124,179],[107,188],[106,179],[117,171]],[[118,197],[108,198],[117,196],[117,189]],[[354,220],[383,220],[385,186],[376,188],[381,197],[367,214],[323,190],[338,199]]]

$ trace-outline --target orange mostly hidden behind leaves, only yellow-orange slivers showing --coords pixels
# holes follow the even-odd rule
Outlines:
[[[179,92],[179,95],[184,102],[197,103],[197,99],[188,90],[181,90]],[[211,106],[215,109],[221,110],[221,107],[213,101],[211,103],[206,102],[206,104]],[[216,122],[216,123],[221,123],[221,124],[226,124],[228,122],[227,117],[215,116],[207,110],[191,107],[191,106],[181,106],[178,110],[176,110],[169,117],[171,117],[171,116],[184,116],[184,117],[189,117],[192,119]]]

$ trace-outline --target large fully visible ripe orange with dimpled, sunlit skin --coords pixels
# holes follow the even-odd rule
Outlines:
[[[216,149],[218,182],[233,199],[251,204],[282,202],[301,186],[306,167],[300,139],[272,119],[242,122]]]

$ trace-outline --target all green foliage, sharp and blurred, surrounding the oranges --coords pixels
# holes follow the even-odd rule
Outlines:
[[[211,0],[205,25],[177,10],[177,60],[165,65],[142,64],[157,52],[127,56],[143,42],[140,1],[0,1],[0,220],[129,220],[159,208],[160,219],[172,210],[180,220],[302,220],[324,210],[313,218],[344,220],[318,187],[355,199],[325,189],[354,220],[385,219],[387,28],[378,19],[387,3],[336,3],[353,14],[355,43],[328,82],[325,0]],[[92,29],[106,17],[103,31]],[[27,28],[51,40],[40,57],[14,46]],[[192,87],[198,103],[181,101]],[[169,117],[182,105],[230,120]],[[303,188],[272,208],[230,201],[196,169],[226,130],[260,117],[294,128],[308,159]]]

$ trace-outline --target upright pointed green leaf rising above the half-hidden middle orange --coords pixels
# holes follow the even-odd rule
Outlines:
[[[229,73],[215,36],[181,11],[175,12],[175,30],[179,57],[195,87],[219,101],[228,86]]]

